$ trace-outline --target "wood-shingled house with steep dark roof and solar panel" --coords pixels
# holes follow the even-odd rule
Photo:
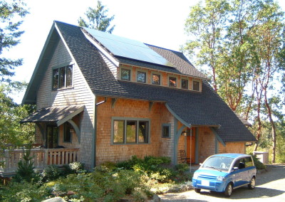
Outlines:
[[[177,164],[180,150],[199,163],[256,141],[182,53],[59,21],[23,103],[37,106],[22,122],[36,123],[46,164],[73,158],[91,169],[133,155]]]

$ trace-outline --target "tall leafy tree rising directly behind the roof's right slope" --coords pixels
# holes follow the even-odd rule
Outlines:
[[[185,31],[191,35],[184,50],[197,56],[197,65],[207,65],[211,69],[214,90],[217,91],[217,73],[219,68],[219,48],[222,43],[222,32],[227,19],[229,4],[227,0],[206,0],[192,6],[185,23]]]

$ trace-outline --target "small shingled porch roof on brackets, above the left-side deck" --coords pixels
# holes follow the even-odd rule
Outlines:
[[[70,105],[66,107],[46,107],[33,112],[32,115],[21,120],[24,122],[53,122],[58,126],[83,112],[84,105]]]

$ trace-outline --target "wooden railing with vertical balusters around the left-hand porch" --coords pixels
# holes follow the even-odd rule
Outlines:
[[[0,166],[0,174],[14,174],[18,169],[18,162],[23,159],[24,150],[5,150],[0,155],[0,161],[4,166]],[[79,161],[79,149],[31,149],[33,166],[37,170],[43,170],[47,165],[69,164]]]

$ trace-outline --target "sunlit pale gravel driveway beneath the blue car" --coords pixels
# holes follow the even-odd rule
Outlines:
[[[183,193],[167,193],[160,195],[161,201],[285,201],[285,165],[267,166],[268,171],[257,175],[257,186],[249,190],[247,186],[234,189],[230,198],[223,193],[209,192],[195,193],[194,190]]]

